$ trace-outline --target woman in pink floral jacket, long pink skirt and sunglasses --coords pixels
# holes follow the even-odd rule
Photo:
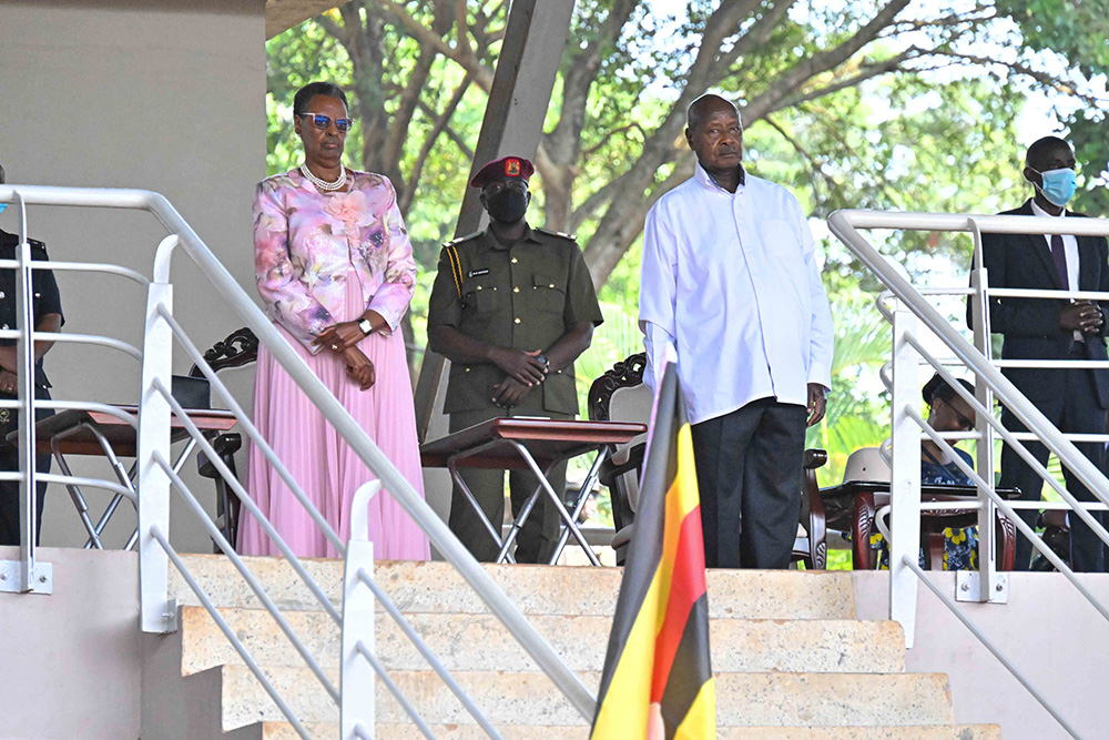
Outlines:
[[[388,179],[342,164],[350,128],[346,95],[313,82],[293,103],[305,163],[266,178],[254,194],[254,264],[266,312],[289,345],[423,495],[411,382],[400,318],[416,263]],[[258,348],[254,423],[344,540],[350,499],[374,475],[265,346]],[[256,446],[250,493],[293,551],[336,557]],[[370,503],[369,535],[385,559],[427,559],[423,531],[387,491]],[[244,516],[238,551],[278,555]]]

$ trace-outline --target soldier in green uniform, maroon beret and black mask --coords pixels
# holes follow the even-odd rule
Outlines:
[[[450,359],[444,412],[457,432],[498,416],[570,419],[578,413],[573,361],[601,323],[593,283],[572,236],[531,229],[525,220],[531,162],[506,156],[470,181],[481,189],[489,227],[444,245],[428,306],[428,345]],[[461,470],[494,526],[505,516],[502,470]],[[549,476],[566,487],[566,465]],[[513,517],[536,489],[528,470],[509,476]],[[450,529],[484,561],[498,547],[456,487]],[[540,497],[517,538],[518,562],[547,562],[559,518]]]

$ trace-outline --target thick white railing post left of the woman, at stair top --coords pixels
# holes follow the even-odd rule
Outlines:
[[[160,307],[173,311],[173,286],[152,282],[146,293],[142,386],[139,399],[139,591],[144,632],[176,629],[176,604],[169,598],[170,558],[152,527],[170,531],[170,477],[157,458],[170,458],[170,404],[156,381],[169,388],[173,364],[173,331]]]

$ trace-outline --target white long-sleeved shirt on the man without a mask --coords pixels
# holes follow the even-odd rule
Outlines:
[[[692,424],[832,387],[832,312],[796,199],[750,174],[735,193],[696,165],[647,215],[639,324],[647,374],[667,346]]]

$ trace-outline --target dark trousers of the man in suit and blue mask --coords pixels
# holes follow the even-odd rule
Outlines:
[[[1082,355],[1085,357],[1085,355]],[[1093,388],[1093,377],[1090,371],[1074,368],[1054,371],[1064,384],[1062,397],[1058,401],[1044,402],[1032,399],[1036,407],[1055,424],[1060,432],[1070,434],[1103,434],[1106,429],[1106,409],[1098,403]],[[1001,423],[1010,432],[1027,432],[1009,409],[1001,410]],[[1036,442],[1025,443],[1028,450],[1041,465],[1047,465],[1049,456],[1047,447]],[[1075,443],[1082,455],[1091,463],[1101,467],[1105,445],[1100,442]],[[1093,494],[1080,484],[1068,469],[1062,470],[1067,490],[1080,501],[1095,500]],[[1020,489],[1020,499],[1038,501],[1044,489],[1044,479],[1013,449],[1008,444],[1001,448],[1001,483],[1003,488]],[[1090,511],[1090,515],[1102,525],[1106,523],[1105,511]],[[1029,509],[1020,513],[1020,518],[1029,526],[1036,526],[1039,511]],[[1106,554],[1101,539],[1077,514],[1070,513],[1070,567],[1079,572],[1103,572]],[[1032,545],[1022,534],[1017,533],[1016,570],[1028,570],[1032,556]]]

